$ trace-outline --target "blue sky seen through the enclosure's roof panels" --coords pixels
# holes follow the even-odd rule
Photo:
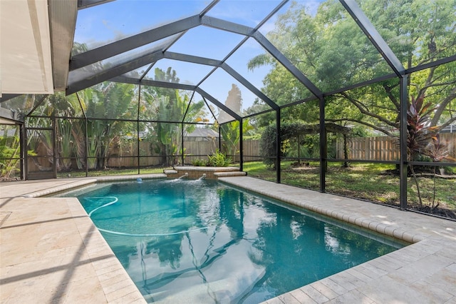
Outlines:
[[[301,2],[309,6],[309,9],[316,11],[316,7],[321,1],[308,0]],[[170,21],[177,21],[199,14],[209,3],[209,0],[115,0],[92,6],[78,12],[74,40],[79,43],[85,43],[89,49],[93,49],[126,36],[167,24]],[[208,12],[207,16],[253,28],[280,3],[280,0],[222,0]],[[279,11],[279,14],[286,11],[290,4],[291,2],[287,3]],[[276,16],[261,27],[262,34],[274,29],[275,18]],[[170,47],[169,51],[222,60],[243,38],[244,36],[242,35],[215,30],[207,26],[198,26],[187,31],[184,36]],[[249,71],[247,63],[254,56],[264,54],[264,52],[264,49],[257,41],[249,39],[227,60],[227,64],[232,66],[244,78],[247,78],[254,86],[261,88],[262,80],[270,67],[264,66],[254,71]],[[177,76],[180,78],[181,83],[197,84],[201,81],[204,73],[212,70],[211,67],[192,66],[192,64],[179,61],[166,59],[161,61],[158,61],[156,66],[165,70],[167,66],[172,64],[172,68],[177,71]],[[252,106],[256,98],[254,93],[244,88],[223,70],[219,71],[217,69],[216,73],[209,76],[201,87],[224,103],[232,83],[241,88],[242,108],[245,109]]]

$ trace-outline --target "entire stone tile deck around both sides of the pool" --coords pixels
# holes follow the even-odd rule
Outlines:
[[[138,176],[103,179],[127,178]],[[219,180],[413,243],[265,303],[456,304],[456,222],[255,178]],[[76,198],[38,197],[95,181],[0,183],[0,303],[145,303]]]

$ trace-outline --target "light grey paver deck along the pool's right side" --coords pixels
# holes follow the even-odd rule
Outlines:
[[[456,263],[453,263],[453,260],[449,258],[451,256],[450,251],[455,252],[454,250],[456,250],[456,224],[454,222],[447,221],[448,226],[452,228],[446,229],[447,233],[445,234],[432,228],[425,228],[426,226],[420,228],[419,224],[418,227],[407,227],[403,223],[385,221],[387,216],[377,214],[373,218],[373,216],[366,216],[362,212],[356,213],[352,210],[353,205],[358,203],[360,206],[363,204],[371,207],[370,210],[381,208],[389,214],[403,213],[404,216],[407,215],[415,219],[421,216],[423,217],[421,220],[435,221],[428,216],[418,216],[415,213],[400,211],[396,208],[263,180],[254,181],[254,186],[252,186],[247,177],[219,178],[219,181],[411,243],[411,245],[395,250],[393,253],[382,255],[263,303],[388,303],[391,300],[396,300],[396,298],[403,299],[404,303],[419,303],[423,301],[423,298],[417,296],[417,290],[413,288],[413,285],[422,280],[425,273],[431,272],[432,275],[433,273],[445,272],[447,268],[455,268],[456,270]],[[259,186],[263,183],[265,186]],[[308,195],[308,197],[303,199],[303,195]],[[348,208],[350,211],[343,212],[345,209],[341,206],[344,204],[351,207]],[[440,221],[445,220],[440,219]],[[452,258],[454,259],[454,256]],[[426,260],[429,260],[428,265],[422,265],[426,264]],[[432,262],[434,267],[432,267]],[[435,267],[435,264],[439,265]],[[423,273],[420,268],[424,266],[432,268],[432,270],[426,270]],[[456,272],[454,273],[454,280],[456,280]],[[383,285],[388,285],[388,288],[382,290],[380,286]],[[421,290],[424,290],[423,296],[432,297],[435,295],[435,287],[432,287],[432,284],[425,285],[428,286],[423,286]],[[448,285],[451,286],[451,281]],[[399,288],[392,292],[390,288],[393,286]],[[427,290],[429,286],[433,291]],[[413,292],[410,292],[409,289]],[[447,293],[445,290],[439,291],[445,294],[446,300],[456,299],[456,295]]]

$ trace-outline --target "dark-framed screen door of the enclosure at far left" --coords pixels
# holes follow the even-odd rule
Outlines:
[[[56,178],[52,128],[26,128],[26,179]]]

